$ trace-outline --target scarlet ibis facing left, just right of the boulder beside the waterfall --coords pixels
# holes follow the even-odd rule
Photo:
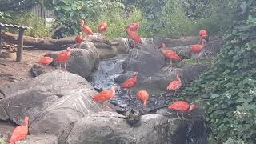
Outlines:
[[[162,43],[162,54],[166,58],[170,59],[170,65],[167,67],[166,70],[168,70],[168,68],[170,67],[170,71],[171,71],[172,67],[173,67],[172,66],[173,65],[173,61],[178,62],[178,61],[182,60],[182,58],[178,54],[176,54],[173,50],[166,50],[166,49],[167,49],[166,48],[166,44]]]

